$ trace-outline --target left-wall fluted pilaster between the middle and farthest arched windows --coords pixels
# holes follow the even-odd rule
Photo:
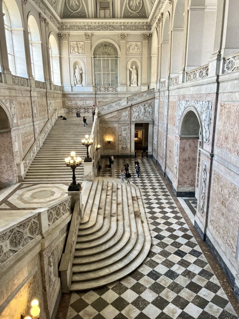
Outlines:
[[[46,34],[46,28],[45,28],[45,17],[39,13],[40,18],[40,26],[41,26],[41,39],[42,39],[42,61],[43,61],[43,72],[44,72],[44,80],[45,80],[45,88],[51,89],[50,87],[50,72],[49,72],[49,59],[48,59],[48,53],[47,53],[47,34]]]

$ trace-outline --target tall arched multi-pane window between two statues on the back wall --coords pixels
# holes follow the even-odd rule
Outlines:
[[[94,50],[95,85],[118,85],[118,52],[110,42],[99,43]]]

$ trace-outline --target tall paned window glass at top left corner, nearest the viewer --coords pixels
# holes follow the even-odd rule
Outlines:
[[[11,36],[11,22],[10,22],[9,14],[7,12],[7,8],[4,2],[3,2],[3,13],[4,13],[4,27],[5,27],[6,42],[7,42],[9,68],[11,70],[11,73],[16,75],[15,59],[14,59],[12,36]]]

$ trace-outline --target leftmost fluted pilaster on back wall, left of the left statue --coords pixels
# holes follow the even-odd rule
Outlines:
[[[58,39],[61,39],[60,43],[60,55],[61,55],[61,70],[62,70],[62,84],[64,91],[71,91],[70,84],[70,63],[69,63],[69,46],[68,39],[69,33],[58,33]]]

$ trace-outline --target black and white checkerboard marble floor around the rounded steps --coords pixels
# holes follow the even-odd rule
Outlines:
[[[120,178],[126,162],[141,191],[151,249],[126,278],[72,293],[67,319],[238,318],[152,160],[139,160],[137,178],[134,159],[116,159],[115,177]],[[110,175],[108,171],[100,174]]]

